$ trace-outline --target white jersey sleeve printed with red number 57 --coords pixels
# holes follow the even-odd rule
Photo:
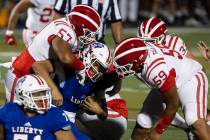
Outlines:
[[[77,43],[77,37],[73,28],[64,20],[55,20],[55,35],[64,41],[68,42],[71,46]]]

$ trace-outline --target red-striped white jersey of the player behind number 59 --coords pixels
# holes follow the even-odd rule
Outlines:
[[[166,35],[165,42],[163,42],[163,45],[166,49],[175,50],[182,56],[185,56],[187,53],[187,47],[185,46],[184,41],[178,36]]]

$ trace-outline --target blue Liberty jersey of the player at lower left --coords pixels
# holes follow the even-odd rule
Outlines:
[[[0,124],[6,140],[55,140],[56,131],[71,127],[59,108],[52,107],[43,115],[28,117],[16,103],[7,103],[0,109]]]

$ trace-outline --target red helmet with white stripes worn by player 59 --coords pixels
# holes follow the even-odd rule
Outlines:
[[[139,38],[128,38],[122,41],[113,55],[117,73],[122,77],[140,73],[147,55],[146,44]]]

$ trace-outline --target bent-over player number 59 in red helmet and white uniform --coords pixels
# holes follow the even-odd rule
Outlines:
[[[148,135],[151,139],[160,139],[171,124],[180,102],[187,125],[193,128],[198,139],[209,140],[205,123],[208,80],[198,62],[174,50],[144,43],[139,38],[121,42],[114,51],[114,61],[121,77],[135,74],[159,91],[145,99],[132,139],[145,139]],[[156,127],[152,129],[157,120]]]

